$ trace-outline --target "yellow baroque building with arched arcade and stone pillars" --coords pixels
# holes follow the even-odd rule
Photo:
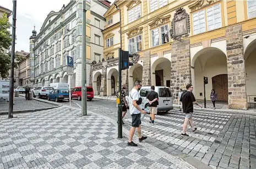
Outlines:
[[[203,78],[208,77],[206,100],[215,89],[218,100],[230,108],[246,110],[254,103],[256,1],[137,0],[116,5],[104,14],[104,59],[91,68],[96,95],[111,96],[118,89],[122,46],[137,53],[134,66],[122,72],[127,90],[135,80],[168,86],[177,102],[179,88],[192,83],[196,99],[203,100]]]

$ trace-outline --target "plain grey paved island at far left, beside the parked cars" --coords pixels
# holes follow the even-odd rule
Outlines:
[[[19,96],[19,97],[14,97],[13,110],[14,111],[31,110],[31,109],[37,109],[37,108],[53,107],[53,106],[55,105],[36,101],[36,100],[26,100],[25,97]],[[9,103],[6,100],[0,100],[0,107],[1,107],[0,112],[7,112],[9,108]]]

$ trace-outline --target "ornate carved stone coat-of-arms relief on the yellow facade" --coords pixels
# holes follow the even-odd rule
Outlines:
[[[172,39],[181,40],[182,37],[188,37],[190,33],[190,17],[186,10],[178,8],[172,19],[171,34]]]

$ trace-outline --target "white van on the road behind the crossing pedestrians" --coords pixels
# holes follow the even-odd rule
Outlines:
[[[146,101],[146,96],[151,91],[150,88],[151,86],[141,86],[139,91],[140,97],[142,98],[141,108],[143,110],[149,106],[148,101]],[[157,92],[159,96],[157,112],[168,112],[173,110],[171,89],[165,86],[155,86],[155,92]],[[126,100],[128,101],[128,96],[126,97]]]

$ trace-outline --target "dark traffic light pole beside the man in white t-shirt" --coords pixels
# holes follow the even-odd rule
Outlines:
[[[119,94],[119,104],[118,104],[118,138],[123,138],[123,128],[122,128],[122,53],[121,48],[118,50],[119,62],[118,62],[118,94]]]

